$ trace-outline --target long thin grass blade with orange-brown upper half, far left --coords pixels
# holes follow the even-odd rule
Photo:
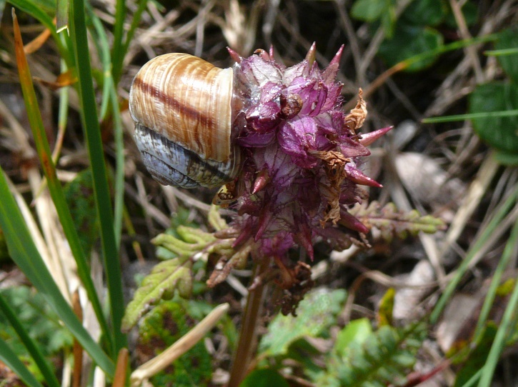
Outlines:
[[[56,176],[56,167],[52,162],[49,141],[46,139],[46,132],[38,108],[38,101],[36,99],[36,93],[34,92],[34,85],[32,84],[29,66],[27,64],[24,48],[21,43],[18,21],[15,15],[13,16],[13,21],[16,61],[19,69],[21,90],[24,94],[27,116],[29,118],[29,124],[33,132],[34,142],[36,144],[36,149],[41,161],[41,166],[43,167],[44,174],[46,176],[46,181],[49,187],[52,201],[54,202],[54,206],[56,206],[59,221],[61,222],[61,226],[63,227],[66,239],[69,242],[72,255],[76,261],[79,278],[81,278],[81,282],[83,283],[86,293],[88,294],[88,298],[92,304],[92,307],[94,308],[96,317],[99,321],[99,324],[101,325],[101,329],[106,334],[108,334],[108,324],[106,323],[106,318],[104,318],[101,303],[90,276],[90,268],[86,263],[86,256],[82,250],[81,242],[79,241],[79,236],[77,235],[74,221],[71,218],[69,208],[66,204],[65,196],[63,194],[63,190],[61,189],[61,183]]]

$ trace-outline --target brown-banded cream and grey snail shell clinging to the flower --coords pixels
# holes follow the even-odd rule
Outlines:
[[[236,177],[233,82],[232,69],[189,54],[157,56],[139,70],[129,110],[136,145],[156,181],[211,188]]]

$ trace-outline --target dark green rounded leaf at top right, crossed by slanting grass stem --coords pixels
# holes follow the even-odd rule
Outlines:
[[[398,23],[391,39],[386,39],[379,46],[379,56],[394,66],[405,59],[418,54],[434,51],[442,46],[442,35],[435,29],[423,26],[411,26]],[[405,71],[419,71],[430,66],[437,59],[437,55],[410,64]]]

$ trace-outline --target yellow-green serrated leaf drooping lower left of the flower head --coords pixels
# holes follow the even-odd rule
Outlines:
[[[126,307],[122,319],[122,330],[129,331],[146,313],[149,306],[157,303],[164,294],[175,290],[181,297],[188,297],[192,291],[191,261],[181,263],[178,258],[156,265],[141,286],[136,290],[133,300]]]

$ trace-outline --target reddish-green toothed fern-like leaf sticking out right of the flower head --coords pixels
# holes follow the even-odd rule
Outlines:
[[[407,238],[409,235],[416,235],[419,231],[436,233],[446,228],[444,221],[439,218],[431,215],[421,216],[416,210],[400,211],[394,203],[388,203],[383,207],[377,201],[372,201],[368,206],[365,203],[357,204],[349,210],[349,213],[362,221],[365,226],[378,228],[387,241],[394,236]]]

